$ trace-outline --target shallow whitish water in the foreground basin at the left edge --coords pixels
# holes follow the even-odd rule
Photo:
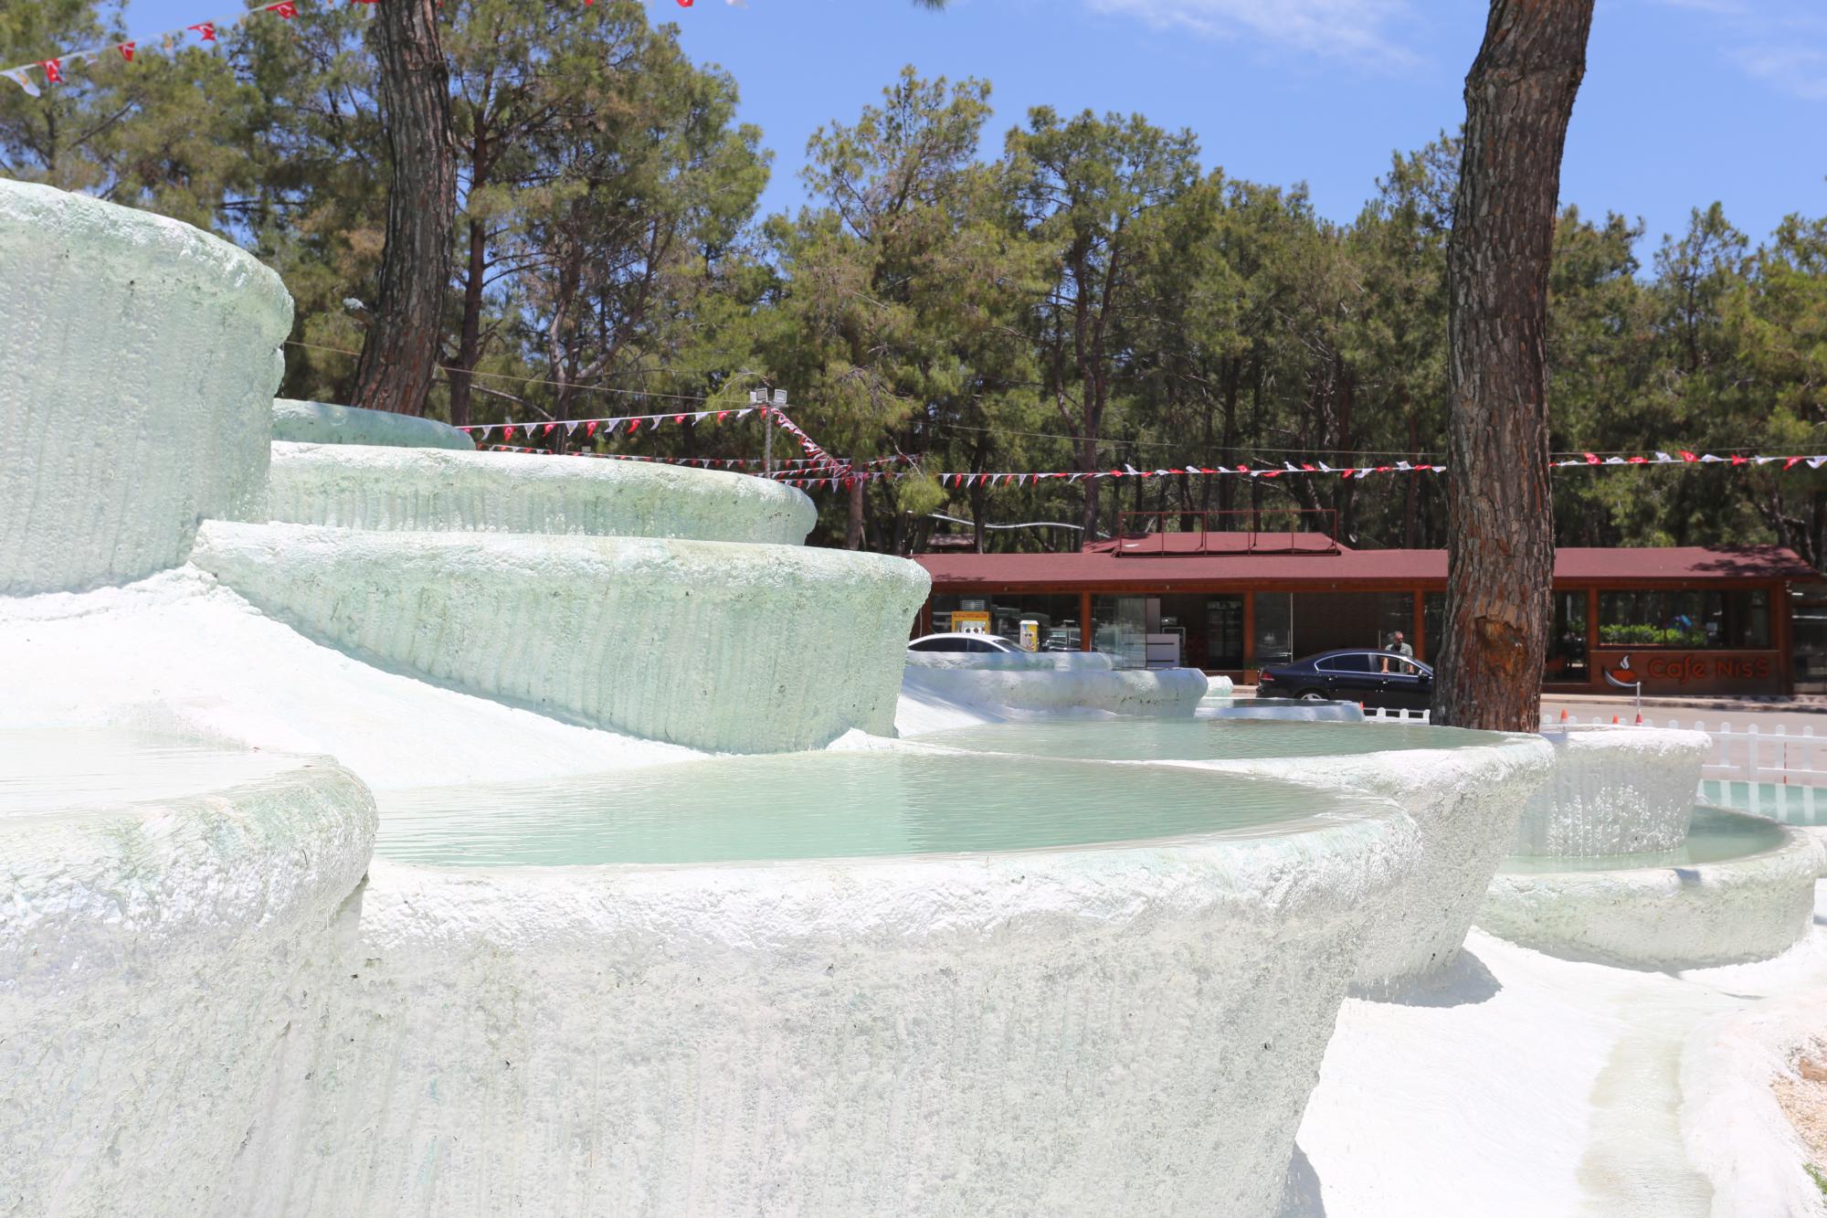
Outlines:
[[[298,764],[126,728],[0,730],[0,817],[201,796]]]

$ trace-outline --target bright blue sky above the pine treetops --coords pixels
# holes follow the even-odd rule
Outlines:
[[[232,4],[130,0],[128,24],[143,35],[223,11]],[[694,59],[736,77],[742,117],[776,154],[769,210],[802,201],[806,137],[853,119],[914,64],[996,86],[992,152],[1034,104],[1140,112],[1197,132],[1208,165],[1306,181],[1325,216],[1350,219],[1392,150],[1458,124],[1485,5],[954,0],[928,13],[908,0],[665,0],[652,13],[680,26]],[[1712,199],[1756,240],[1787,212],[1827,214],[1823,132],[1822,0],[1599,0],[1562,199],[1641,216],[1644,260]]]

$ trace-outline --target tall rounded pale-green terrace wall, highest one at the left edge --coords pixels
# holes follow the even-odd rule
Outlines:
[[[190,225],[0,179],[0,594],[185,560],[265,508],[292,300]]]

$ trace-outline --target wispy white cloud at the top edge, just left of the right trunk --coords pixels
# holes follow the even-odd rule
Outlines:
[[[1405,0],[1087,0],[1098,13],[1135,16],[1156,29],[1251,38],[1281,49],[1359,64],[1401,66],[1414,53],[1394,40]]]

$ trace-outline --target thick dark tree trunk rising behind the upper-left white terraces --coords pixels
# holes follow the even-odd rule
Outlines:
[[[393,188],[387,192],[380,296],[362,340],[354,402],[422,415],[438,362],[457,208],[449,73],[433,0],[375,5],[373,49]]]

